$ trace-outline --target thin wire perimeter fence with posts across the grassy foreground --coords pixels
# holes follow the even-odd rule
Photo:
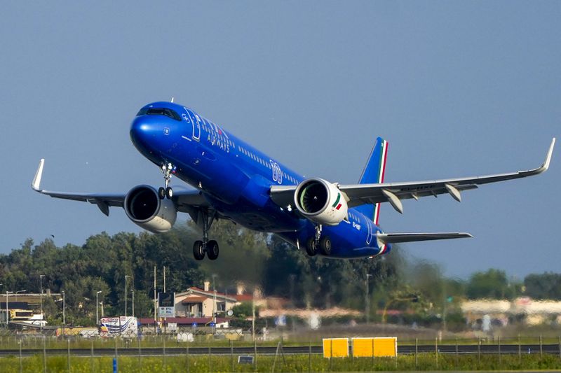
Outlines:
[[[318,372],[560,369],[561,337],[398,341],[396,358],[325,358],[320,342],[140,338],[0,337],[1,372]]]

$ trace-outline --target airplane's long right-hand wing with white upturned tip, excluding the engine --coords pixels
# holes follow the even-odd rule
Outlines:
[[[419,197],[437,196],[450,194],[458,202],[461,201],[460,192],[478,188],[478,185],[496,183],[498,181],[513,180],[534,176],[546,171],[549,167],[551,155],[555,146],[555,137],[551,141],[546,160],[541,167],[527,171],[517,171],[506,174],[494,174],[487,176],[473,176],[467,178],[447,178],[442,180],[412,181],[405,183],[379,183],[379,184],[349,184],[339,185],[339,190],[348,197],[349,207],[361,204],[376,204],[378,202],[389,202],[396,211],[403,213],[401,199],[419,199]],[[279,206],[294,204],[294,192],[296,185],[273,185],[271,186],[271,199]]]

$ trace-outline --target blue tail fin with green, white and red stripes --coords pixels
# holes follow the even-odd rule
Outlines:
[[[386,157],[388,155],[388,141],[378,137],[366,162],[363,174],[360,176],[358,183],[360,184],[377,184],[384,183],[384,174],[386,173]],[[378,217],[380,204],[363,204],[356,207],[358,211],[378,225]]]

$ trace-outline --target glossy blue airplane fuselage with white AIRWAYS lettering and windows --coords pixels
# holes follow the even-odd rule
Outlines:
[[[147,108],[167,109],[147,115]],[[273,232],[302,246],[316,225],[296,209],[282,208],[269,194],[271,185],[297,185],[304,176],[253,148],[190,108],[170,102],[144,106],[133,120],[130,137],[135,147],[161,167],[173,164],[175,176],[200,190],[222,217],[260,232]],[[379,227],[357,209],[349,220],[323,226],[332,241],[333,258],[360,258],[390,251],[379,248]]]

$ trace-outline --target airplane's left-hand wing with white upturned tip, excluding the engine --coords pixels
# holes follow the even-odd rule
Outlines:
[[[123,194],[103,194],[103,193],[73,193],[73,192],[53,192],[41,189],[41,177],[45,160],[39,161],[39,167],[32,182],[32,189],[43,195],[53,198],[71,199],[73,201],[90,202],[96,204],[100,211],[109,216],[109,206],[123,207],[126,193]],[[208,206],[208,202],[198,190],[180,190],[173,193],[173,202],[177,206],[177,211],[189,213],[192,208]]]

